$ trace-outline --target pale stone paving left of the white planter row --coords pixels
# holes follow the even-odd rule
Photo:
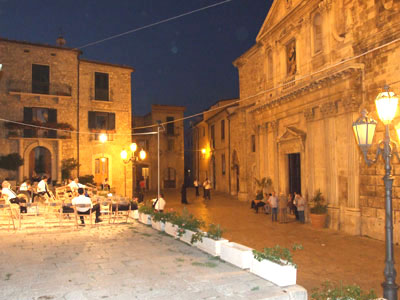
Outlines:
[[[137,222],[25,226],[0,240],[4,300],[306,299]]]

